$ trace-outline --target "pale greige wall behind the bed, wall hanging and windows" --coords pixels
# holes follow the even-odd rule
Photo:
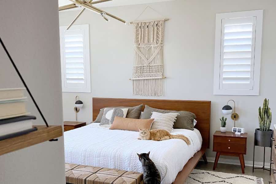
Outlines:
[[[272,113],[276,112],[275,97],[275,49],[276,35],[274,24],[276,2],[274,0],[175,0],[171,2],[144,5],[105,8],[109,13],[127,21],[133,21],[151,6],[163,17],[165,22],[165,96],[141,97],[132,95],[131,78],[133,63],[132,26],[111,19],[106,23],[97,14],[86,10],[75,24],[90,25],[91,93],[63,93],[64,120],[74,120],[74,98],[79,95],[84,107],[79,113],[79,121],[92,120],[92,97],[106,98],[154,98],[180,100],[210,100],[211,105],[211,144],[208,157],[214,157],[212,151],[213,133],[219,130],[219,118],[223,116],[221,108],[229,99],[236,101],[236,112],[240,120],[236,126],[244,127],[248,132],[247,155],[245,160],[253,159],[253,139],[258,128],[258,108],[264,98],[270,99]],[[213,95],[214,42],[216,13],[264,10],[263,45],[261,61],[261,79],[259,96],[218,96]],[[60,12],[60,25],[68,25],[78,14],[76,11]],[[160,18],[154,11],[146,11],[139,19]],[[230,104],[232,105],[232,104]],[[228,117],[230,131],[234,122]],[[274,119],[272,120],[274,122]],[[263,149],[256,148],[256,160],[262,161]],[[267,153],[269,151],[266,151]],[[267,155],[268,156],[268,155]],[[231,157],[233,159],[233,157]],[[269,162],[269,159],[266,160]]]

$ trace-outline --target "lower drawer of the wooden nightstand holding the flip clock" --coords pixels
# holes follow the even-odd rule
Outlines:
[[[246,154],[245,144],[230,144],[214,142],[213,151],[232,152],[237,154]]]

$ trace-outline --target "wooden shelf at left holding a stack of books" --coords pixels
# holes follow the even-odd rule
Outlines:
[[[61,125],[53,125],[49,127],[44,125],[37,125],[33,127],[37,127],[37,131],[30,132],[22,136],[1,140],[0,155],[62,136]]]

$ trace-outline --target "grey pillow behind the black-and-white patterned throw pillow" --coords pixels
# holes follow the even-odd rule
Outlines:
[[[139,119],[140,115],[141,115],[142,107],[143,107],[143,104],[137,105],[135,107],[105,107],[105,108],[120,108],[120,109],[128,108],[128,113],[127,113],[126,118]],[[100,112],[99,112],[96,120],[94,121],[94,123],[100,123],[101,122],[102,115],[103,115],[103,112],[104,112],[105,108],[102,108],[100,110]],[[147,118],[147,119],[150,119],[150,118]]]

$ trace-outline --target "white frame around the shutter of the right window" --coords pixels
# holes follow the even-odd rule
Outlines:
[[[256,34],[255,34],[255,54],[254,54],[254,73],[253,89],[220,89],[221,70],[221,25],[223,19],[256,17]],[[262,46],[262,27],[263,27],[263,10],[217,13],[216,14],[216,34],[215,34],[215,62],[214,62],[214,95],[259,95],[260,82],[260,65],[261,65],[261,46]],[[253,51],[254,52],[254,51]]]

